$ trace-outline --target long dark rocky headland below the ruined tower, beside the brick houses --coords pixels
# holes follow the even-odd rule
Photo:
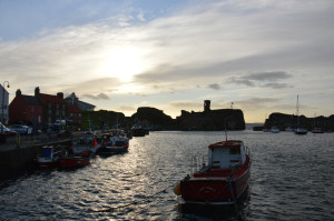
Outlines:
[[[94,129],[131,128],[139,124],[149,130],[245,130],[244,113],[239,109],[219,109],[203,112],[181,111],[176,119],[164,111],[150,107],[141,107],[131,117],[114,111],[85,111],[82,128],[88,128],[89,122]]]

